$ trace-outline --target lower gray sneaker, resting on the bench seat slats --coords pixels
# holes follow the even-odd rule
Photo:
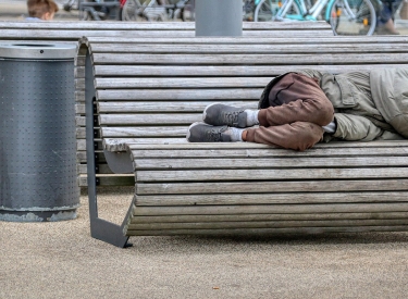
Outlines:
[[[227,126],[211,126],[201,122],[188,127],[187,141],[189,142],[230,142],[231,134]]]

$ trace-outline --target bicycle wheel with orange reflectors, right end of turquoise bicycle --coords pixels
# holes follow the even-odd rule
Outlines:
[[[334,35],[372,35],[376,13],[370,0],[335,0],[327,8]]]

